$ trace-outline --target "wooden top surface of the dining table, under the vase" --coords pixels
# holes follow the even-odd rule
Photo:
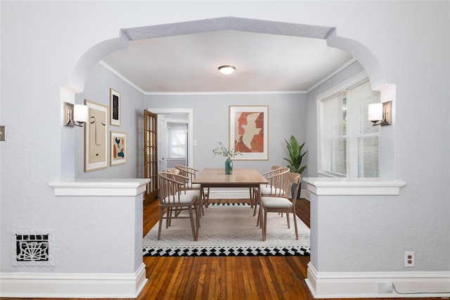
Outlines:
[[[193,183],[214,185],[216,187],[246,187],[267,183],[266,178],[255,169],[233,168],[233,174],[226,175],[225,168],[205,169],[195,177]]]

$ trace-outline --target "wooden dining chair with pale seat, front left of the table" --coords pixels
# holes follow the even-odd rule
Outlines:
[[[186,191],[184,181],[186,177],[171,172],[158,173],[160,183],[160,224],[158,239],[161,239],[162,223],[166,220],[166,228],[172,225],[173,219],[191,219],[194,241],[198,241],[200,214],[198,211],[198,192]],[[188,211],[188,216],[181,214]],[[195,218],[194,218],[195,213]]]

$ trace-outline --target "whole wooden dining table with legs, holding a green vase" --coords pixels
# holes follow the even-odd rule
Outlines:
[[[224,168],[205,168],[192,181],[194,184],[200,185],[200,193],[203,198],[205,208],[208,207],[210,188],[212,187],[248,187],[250,189],[250,197],[255,192],[257,203],[261,203],[261,194],[259,185],[264,185],[267,182],[266,178],[256,169],[248,168],[233,168],[233,173],[226,174]],[[207,192],[204,193],[207,189]],[[257,204],[255,204],[257,205]],[[264,235],[264,218],[262,218],[262,207],[259,205],[260,227],[262,228],[263,239]]]

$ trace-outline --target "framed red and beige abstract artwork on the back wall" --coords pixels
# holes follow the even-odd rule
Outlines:
[[[233,160],[267,160],[269,106],[230,106],[230,146],[242,156]]]

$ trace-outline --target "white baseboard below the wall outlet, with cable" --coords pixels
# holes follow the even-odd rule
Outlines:
[[[317,272],[309,263],[305,282],[314,298],[323,299],[450,296],[450,272]],[[397,292],[380,292],[392,284]]]

